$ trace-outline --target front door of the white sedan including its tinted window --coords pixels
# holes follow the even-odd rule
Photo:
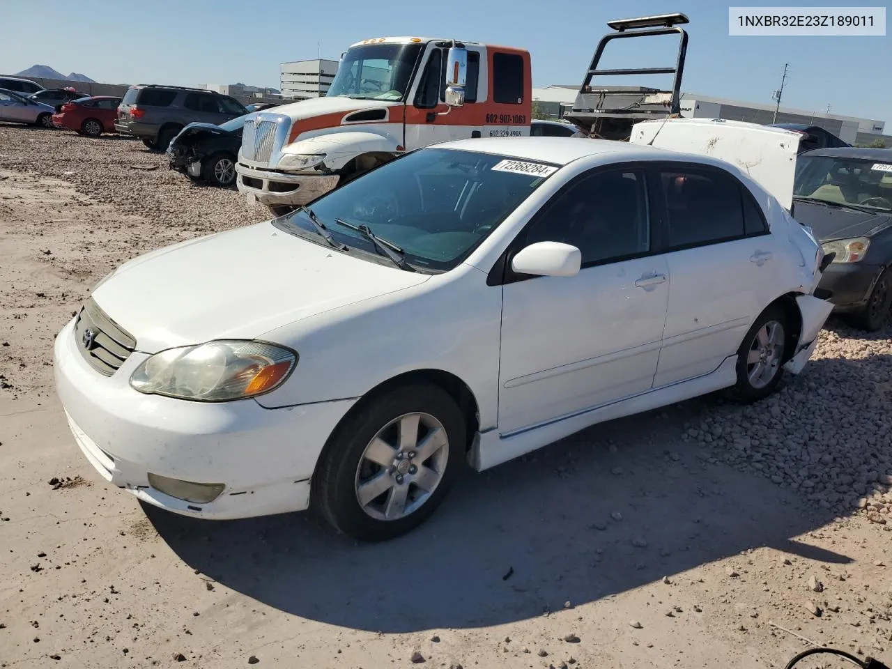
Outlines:
[[[575,277],[502,286],[499,431],[510,434],[651,388],[669,269],[651,254],[644,169],[574,179],[517,240],[573,244]]]

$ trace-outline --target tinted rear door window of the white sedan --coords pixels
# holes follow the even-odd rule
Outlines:
[[[743,186],[730,174],[665,168],[660,178],[670,248],[715,244],[746,235]]]

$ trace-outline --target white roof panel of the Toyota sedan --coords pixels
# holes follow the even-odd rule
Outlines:
[[[561,166],[597,154],[615,154],[621,160],[659,156],[669,160],[723,164],[721,161],[713,161],[690,153],[676,153],[652,146],[588,137],[482,137],[444,142],[433,145],[433,148],[494,153],[519,160],[550,162]]]

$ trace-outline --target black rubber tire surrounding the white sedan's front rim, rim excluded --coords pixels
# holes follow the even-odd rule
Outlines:
[[[465,417],[449,393],[432,384],[408,384],[385,390],[351,409],[329,437],[312,478],[310,506],[339,532],[359,541],[386,541],[422,524],[440,505],[464,466]],[[448,460],[430,498],[398,520],[377,520],[363,510],[356,494],[360,458],[368,443],[393,419],[424,412],[440,421],[448,439]]]

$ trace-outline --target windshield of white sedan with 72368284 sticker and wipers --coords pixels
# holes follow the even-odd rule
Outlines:
[[[501,155],[421,149],[348,182],[311,206],[335,240],[351,250],[376,253],[368,238],[336,219],[368,226],[399,247],[415,268],[447,271],[465,260],[556,170]],[[276,219],[275,225],[319,239],[306,211]],[[383,257],[376,254],[374,260]]]

